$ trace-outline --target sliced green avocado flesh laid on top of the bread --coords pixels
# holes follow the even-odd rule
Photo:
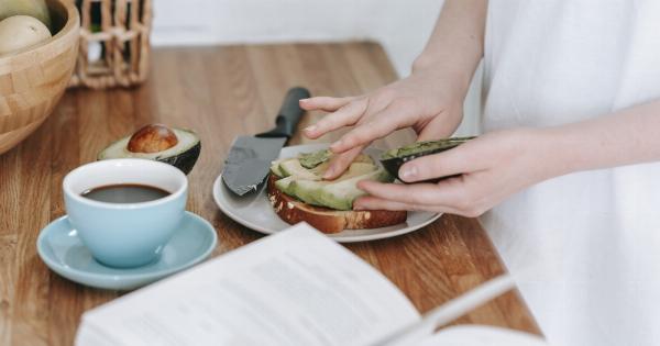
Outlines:
[[[321,150],[327,152],[327,150]],[[321,157],[320,152],[309,153],[309,156]],[[315,155],[315,156],[312,156]],[[282,192],[292,196],[305,203],[326,207],[336,210],[352,210],[353,201],[366,194],[358,189],[361,180],[376,180],[392,182],[394,178],[383,168],[378,167],[367,155],[361,154],[349,169],[334,180],[323,180],[321,177],[328,168],[327,159],[316,166],[306,168],[300,163],[300,157],[274,161],[271,171],[280,177],[275,181],[275,187]],[[308,165],[312,166],[312,165]]]

